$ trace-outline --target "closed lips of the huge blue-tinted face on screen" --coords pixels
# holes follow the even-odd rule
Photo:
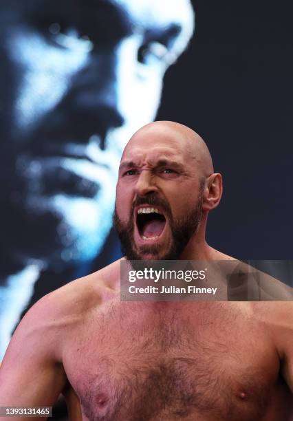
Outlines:
[[[45,196],[94,198],[102,186],[112,188],[116,174],[111,162],[115,160],[109,151],[101,151],[92,138],[86,144],[55,140],[45,147],[36,142],[30,151],[23,151],[19,155],[19,171],[27,179],[30,191]]]

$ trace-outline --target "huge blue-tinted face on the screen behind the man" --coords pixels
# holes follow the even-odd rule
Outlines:
[[[122,149],[155,118],[192,33],[188,0],[1,2],[1,247],[23,261],[94,258]]]

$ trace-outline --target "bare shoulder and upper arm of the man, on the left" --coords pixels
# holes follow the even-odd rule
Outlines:
[[[67,385],[64,356],[68,340],[84,330],[94,307],[117,295],[113,288],[116,272],[114,265],[76,279],[30,308],[14,332],[0,367],[3,404],[54,404]]]

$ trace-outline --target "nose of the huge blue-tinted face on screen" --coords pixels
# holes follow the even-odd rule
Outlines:
[[[89,136],[99,135],[101,149],[105,149],[109,130],[122,127],[127,120],[125,105],[130,98],[129,88],[133,89],[131,63],[135,57],[133,40],[123,40],[104,51],[93,50],[83,69],[72,77],[66,105],[74,111],[79,124],[87,127]]]

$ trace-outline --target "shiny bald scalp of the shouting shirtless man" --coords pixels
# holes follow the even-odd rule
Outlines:
[[[193,160],[202,176],[213,173],[213,161],[204,140],[189,127],[173,121],[151,122],[136,131],[124,149],[122,160],[133,147],[155,148],[162,144],[169,144],[188,160]]]

